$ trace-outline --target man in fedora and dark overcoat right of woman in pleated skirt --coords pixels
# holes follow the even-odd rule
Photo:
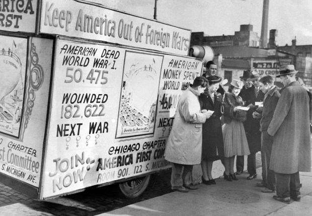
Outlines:
[[[247,81],[251,81],[253,86],[246,90],[246,105],[250,107],[247,111],[247,120],[244,122],[244,127],[246,131],[246,136],[248,140],[248,146],[250,155],[247,158],[247,171],[249,176],[248,180],[252,180],[257,177],[256,171],[256,153],[261,151],[261,131],[260,131],[260,121],[259,119],[253,118],[254,112],[262,112],[262,109],[256,106],[255,102],[262,102],[264,99],[264,93],[260,91],[259,80],[261,76],[258,69],[252,71],[250,78]],[[244,160],[240,160],[243,161]],[[241,165],[242,166],[242,165]],[[243,164],[244,167],[244,164]]]

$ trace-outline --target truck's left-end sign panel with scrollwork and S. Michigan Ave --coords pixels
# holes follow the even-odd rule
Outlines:
[[[0,172],[36,187],[42,165],[52,45],[49,39],[0,36]]]

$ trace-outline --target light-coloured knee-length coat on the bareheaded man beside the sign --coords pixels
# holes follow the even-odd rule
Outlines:
[[[198,96],[191,87],[181,95],[165,150],[167,161],[184,165],[201,162],[202,123],[206,115],[201,113]]]

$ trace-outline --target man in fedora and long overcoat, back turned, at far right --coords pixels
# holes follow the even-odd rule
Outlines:
[[[299,172],[311,171],[309,97],[296,81],[293,65],[282,65],[279,75],[285,86],[267,133],[273,136],[270,169],[276,175],[274,199],[300,201]]]

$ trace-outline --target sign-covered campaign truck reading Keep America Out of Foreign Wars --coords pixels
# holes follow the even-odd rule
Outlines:
[[[201,75],[191,31],[78,0],[1,8],[0,181],[40,200],[141,194],[171,167],[177,104]]]

